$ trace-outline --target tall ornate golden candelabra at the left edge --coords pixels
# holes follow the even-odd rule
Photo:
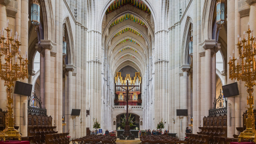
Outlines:
[[[28,59],[27,52],[26,58],[24,55],[21,57],[20,36],[16,32],[14,38],[12,38],[12,29],[8,28],[8,23],[9,20],[7,20],[7,28],[2,29],[2,36],[0,37],[0,77],[4,81],[4,86],[7,86],[7,116],[5,118],[5,129],[0,132],[0,140],[18,138],[21,141],[21,134],[14,129],[12,86],[18,79],[28,78]],[[4,37],[4,31],[6,31],[6,38]],[[2,59],[5,63],[2,63]]]

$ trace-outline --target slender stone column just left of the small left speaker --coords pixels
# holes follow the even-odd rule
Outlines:
[[[68,130],[70,131],[70,137],[73,138],[73,122],[72,122],[72,116],[71,116],[71,111],[73,108],[73,70],[74,70],[74,66],[73,65],[66,65],[66,70],[68,73],[68,95],[67,95],[67,111],[66,114],[68,115],[67,117],[67,127]]]

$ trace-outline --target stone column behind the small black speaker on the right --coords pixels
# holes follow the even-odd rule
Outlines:
[[[190,69],[190,65],[182,65],[181,70],[183,71],[183,99],[181,102],[183,103],[182,109],[188,109],[188,71]],[[188,126],[188,116],[183,116],[183,129],[181,133],[183,133],[183,137],[186,137],[185,127]],[[182,137],[181,137],[182,138]]]

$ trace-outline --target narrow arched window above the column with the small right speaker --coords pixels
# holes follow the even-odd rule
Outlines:
[[[187,64],[190,65],[193,56],[193,26],[190,23],[189,30],[188,30],[188,38],[187,38],[187,57],[188,61]]]

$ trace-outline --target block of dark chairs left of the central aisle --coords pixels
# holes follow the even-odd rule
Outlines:
[[[101,144],[115,144],[117,137],[114,135],[86,135],[79,139],[72,140],[73,144],[86,144],[86,143],[101,143]]]

